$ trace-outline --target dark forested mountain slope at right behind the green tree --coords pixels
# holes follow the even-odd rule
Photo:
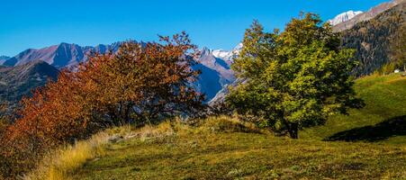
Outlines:
[[[389,62],[390,40],[401,28],[406,28],[405,5],[398,4],[341,32],[342,45],[356,49],[356,59],[360,60],[360,66],[355,69],[356,76],[371,74]]]

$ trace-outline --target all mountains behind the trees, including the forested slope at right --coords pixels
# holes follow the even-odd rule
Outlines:
[[[370,74],[389,61],[388,47],[385,46],[389,43],[388,40],[392,33],[404,23],[405,2],[406,0],[393,0],[379,4],[365,13],[349,11],[338,14],[329,21],[333,25],[333,30],[341,33],[343,47],[357,49],[356,58],[361,61],[361,66],[356,69],[356,75]],[[390,22],[390,24],[385,22]],[[10,97],[21,98],[21,92],[27,94],[32,87],[43,85],[46,82],[44,79],[55,79],[55,74],[58,74],[56,72],[59,69],[73,67],[79,62],[86,61],[88,53],[92,51],[105,53],[108,50],[114,52],[119,49],[121,44],[122,42],[115,42],[110,45],[99,44],[95,47],[82,47],[77,44],[60,43],[42,49],[26,49],[12,58],[1,56],[0,65],[3,67],[0,71],[3,74],[1,74],[0,85],[3,86],[0,88],[3,90],[0,89],[0,94],[3,97],[9,95]],[[230,65],[233,63],[233,58],[238,56],[241,48],[242,44],[231,50],[203,48],[200,57],[195,58],[200,63],[194,69],[200,69],[202,74],[194,86],[206,94],[208,102],[222,100],[223,95],[221,94],[227,92],[226,86],[235,82],[236,77],[230,69]],[[49,66],[47,67],[44,63]],[[29,68],[32,70],[22,70]],[[32,73],[35,70],[39,71]],[[29,73],[23,74],[27,72]],[[25,76],[23,80],[26,81],[21,85],[15,80],[22,80],[20,73]],[[28,76],[32,77],[28,78]],[[38,81],[34,81],[35,79]],[[6,87],[6,85],[11,86]],[[24,90],[24,88],[28,90]],[[5,89],[9,90],[5,91]],[[17,92],[10,95],[14,91]]]

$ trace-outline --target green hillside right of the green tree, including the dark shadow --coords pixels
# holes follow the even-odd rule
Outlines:
[[[302,138],[406,144],[395,136],[406,136],[406,76],[365,76],[356,80],[356,92],[363,109],[330,117],[324,126],[302,131]]]

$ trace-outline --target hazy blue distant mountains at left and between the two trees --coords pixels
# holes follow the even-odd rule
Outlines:
[[[122,42],[116,42],[111,45],[100,44],[95,47],[81,47],[77,44],[60,43],[43,49],[24,50],[13,58],[7,58],[3,65],[14,67],[30,63],[33,60],[42,60],[57,68],[73,67],[79,62],[86,61],[90,52],[105,53],[108,50],[115,52],[121,44]],[[210,101],[221,90],[222,86],[235,80],[230,64],[240,48],[240,45],[230,51],[203,48],[201,56],[195,59],[201,64],[194,68],[203,72],[195,83],[195,87],[206,94],[207,101]]]

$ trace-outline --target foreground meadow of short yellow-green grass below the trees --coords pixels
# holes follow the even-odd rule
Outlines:
[[[224,122],[227,121],[226,117],[210,119],[222,122],[207,122],[199,127],[173,122],[170,134],[167,134],[168,130],[163,130],[162,135],[156,133],[149,139],[142,139],[140,136],[104,145],[105,154],[98,160],[88,161],[72,174],[72,177],[74,179],[406,178],[404,144],[381,146],[364,142],[294,140],[275,137],[270,133],[247,132],[234,128],[220,131],[219,126],[223,128],[224,124],[234,126],[234,123],[238,122],[231,117],[230,123]]]

